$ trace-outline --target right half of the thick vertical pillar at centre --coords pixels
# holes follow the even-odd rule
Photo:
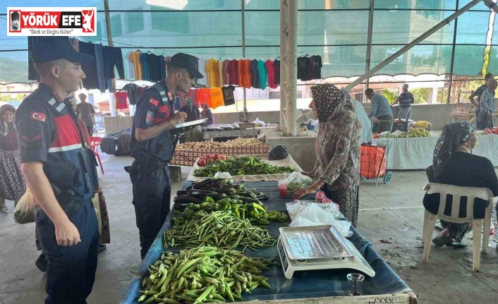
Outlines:
[[[287,130],[284,135],[297,136],[296,127],[298,92],[298,0],[287,0]]]

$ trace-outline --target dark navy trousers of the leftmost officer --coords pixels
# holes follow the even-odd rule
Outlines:
[[[95,281],[99,226],[92,201],[83,202],[68,218],[81,242],[59,246],[54,223],[42,209],[37,212],[37,234],[48,261],[45,304],[85,304]]]

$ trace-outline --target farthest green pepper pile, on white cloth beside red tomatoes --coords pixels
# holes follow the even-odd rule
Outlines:
[[[231,176],[258,175],[258,174],[283,174],[291,173],[292,166],[274,166],[264,162],[262,159],[252,156],[233,157],[226,161],[216,160],[194,172],[194,176],[214,176],[217,172],[229,172]]]

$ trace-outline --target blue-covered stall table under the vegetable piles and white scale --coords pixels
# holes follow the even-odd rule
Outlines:
[[[183,188],[190,185],[190,181],[184,183]],[[280,197],[278,195],[278,186],[276,181],[252,182],[246,185],[247,188],[257,188],[261,192],[272,192],[269,200],[265,201],[265,206],[271,210],[285,211],[286,202],[291,198]],[[308,195],[303,199],[311,200],[314,195]],[[142,276],[148,275],[147,268],[154,264],[162,252],[163,233],[171,227],[171,218],[173,212],[170,212],[161,231],[157,235],[149,253],[142,261],[138,269],[138,276],[128,286],[128,290],[120,301],[120,304],[138,304],[140,295],[140,284]],[[278,229],[289,223],[272,223],[268,225],[268,230],[272,236],[278,236]],[[341,270],[320,270],[320,271],[303,271],[296,272],[292,279],[285,279],[284,272],[280,266],[270,267],[262,275],[269,277],[268,283],[272,289],[256,288],[251,294],[243,293],[241,303],[249,303],[251,300],[282,300],[279,303],[416,303],[416,297],[406,283],[387,265],[387,263],[372,248],[372,245],[361,236],[360,233],[351,227],[353,236],[348,238],[355,245],[359,252],[365,257],[375,271],[373,278],[366,277],[363,283],[363,294],[365,296],[350,297],[348,294],[348,280],[346,274],[357,272],[351,269]],[[181,248],[169,248],[169,250],[178,252]],[[276,246],[263,248],[257,251],[246,250],[250,256],[273,258],[279,260]],[[348,300],[348,302],[346,302]]]

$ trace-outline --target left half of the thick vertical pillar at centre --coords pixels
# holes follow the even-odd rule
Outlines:
[[[280,0],[280,130],[287,129],[287,2]]]

